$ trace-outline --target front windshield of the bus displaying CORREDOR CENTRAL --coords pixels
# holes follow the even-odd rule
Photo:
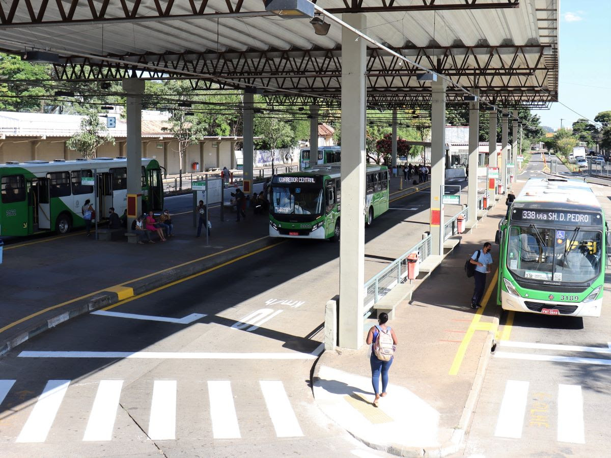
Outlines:
[[[323,189],[313,186],[273,186],[272,213],[321,214]]]

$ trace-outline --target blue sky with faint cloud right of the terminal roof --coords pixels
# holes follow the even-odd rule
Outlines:
[[[560,1],[558,100],[549,110],[533,110],[541,125],[570,127],[611,110],[611,0]],[[577,114],[577,113],[578,114]]]

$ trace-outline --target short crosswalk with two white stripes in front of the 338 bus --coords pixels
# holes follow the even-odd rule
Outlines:
[[[529,382],[507,380],[494,435],[518,439],[527,429],[536,434],[555,430],[558,442],[585,443],[581,387],[559,384],[554,390],[538,391]]]

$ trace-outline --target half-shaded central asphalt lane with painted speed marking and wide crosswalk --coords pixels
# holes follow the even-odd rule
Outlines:
[[[367,229],[366,278],[420,240],[429,201]],[[22,344],[0,360],[2,456],[379,456],[309,387],[338,252],[287,240]]]

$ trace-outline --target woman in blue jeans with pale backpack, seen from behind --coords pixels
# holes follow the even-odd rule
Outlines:
[[[378,315],[378,324],[372,326],[367,334],[367,344],[371,344],[371,357],[369,359],[371,365],[371,385],[376,398],[373,401],[373,406],[378,407],[380,396],[386,396],[386,387],[388,386],[388,370],[392,365],[395,346],[397,345],[397,336],[390,326],[386,325],[388,321],[387,313]],[[382,376],[382,393],[379,391],[379,378]]]

